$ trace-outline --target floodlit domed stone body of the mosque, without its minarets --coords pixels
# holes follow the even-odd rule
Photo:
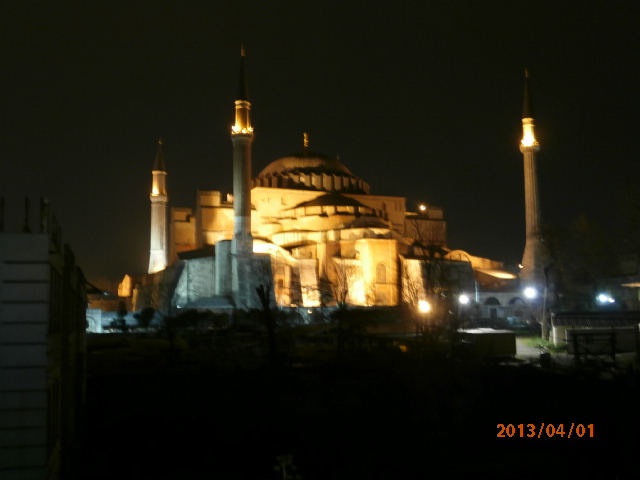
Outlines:
[[[306,135],[301,152],[273,161],[253,179],[252,250],[270,256],[278,305],[319,306],[344,276],[349,304],[397,305],[402,262],[419,256],[412,245],[446,248],[441,208],[410,212],[404,197],[369,192],[338,159],[312,152]],[[220,257],[237,235],[236,205],[237,195],[199,191],[195,210],[171,209],[170,264],[181,269],[173,279],[175,305],[234,297],[227,288],[233,268],[225,272]]]

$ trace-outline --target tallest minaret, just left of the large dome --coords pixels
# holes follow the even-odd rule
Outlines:
[[[234,232],[232,253],[251,255],[253,237],[251,236],[251,144],[253,127],[249,113],[251,103],[247,94],[247,82],[244,76],[244,48],[240,50],[240,86],[236,99],[236,121],[231,127],[233,143],[233,214]]]

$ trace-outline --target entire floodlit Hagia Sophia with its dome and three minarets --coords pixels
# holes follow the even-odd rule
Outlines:
[[[417,304],[427,290],[425,259],[434,257],[446,270],[450,289],[475,296],[478,304],[486,300],[481,298],[486,292],[517,283],[517,276],[505,272],[500,262],[450,249],[441,207],[421,205],[413,212],[405,197],[372,194],[366,179],[339,158],[315,153],[306,133],[298,153],[276,159],[252,176],[254,127],[244,55],[241,61],[231,127],[233,194],[200,190],[195,208],[169,207],[159,142],[152,169],[149,273],[125,276],[120,285],[121,296],[133,297],[134,310],[149,305],[165,313],[180,308],[249,310],[259,308],[255,290],[261,285],[271,290],[279,307]],[[525,110],[527,96],[525,90]],[[523,128],[532,136],[533,118],[523,119]],[[535,167],[537,142],[524,142],[525,164],[529,154]],[[529,184],[525,178],[525,187],[535,194],[535,178]],[[535,276],[537,252],[535,245],[529,246],[536,242],[535,234],[529,234],[537,228],[535,202],[532,208],[536,212],[527,215],[522,273]],[[491,295],[493,304],[523,304],[513,292],[499,300],[499,293]]]

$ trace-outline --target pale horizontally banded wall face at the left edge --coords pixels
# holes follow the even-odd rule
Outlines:
[[[46,476],[49,238],[0,235],[0,477]]]

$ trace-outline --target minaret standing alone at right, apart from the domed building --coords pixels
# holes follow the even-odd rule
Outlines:
[[[540,292],[544,286],[543,250],[539,236],[540,202],[538,200],[538,177],[536,173],[536,153],[540,150],[540,144],[536,140],[533,126],[529,72],[525,69],[520,151],[524,157],[524,204],[527,236],[522,256],[520,281],[523,286],[536,287]]]

